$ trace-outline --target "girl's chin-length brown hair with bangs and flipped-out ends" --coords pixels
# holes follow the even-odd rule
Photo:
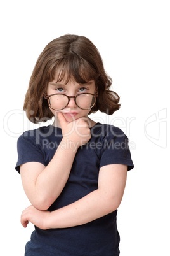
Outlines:
[[[56,71],[59,71],[58,81],[65,83],[70,78],[77,83],[95,80],[98,97],[89,113],[100,110],[112,115],[119,110],[119,96],[109,90],[112,79],[105,72],[96,46],[84,36],[66,34],[48,43],[37,59],[23,106],[31,122],[45,122],[53,117],[44,93]]]

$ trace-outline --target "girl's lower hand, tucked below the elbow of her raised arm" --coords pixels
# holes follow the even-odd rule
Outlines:
[[[21,224],[27,227],[29,222],[39,227],[39,229],[49,229],[47,223],[50,211],[37,210],[34,206],[29,206],[23,210],[21,215]]]

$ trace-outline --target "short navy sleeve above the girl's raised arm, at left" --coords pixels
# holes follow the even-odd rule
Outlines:
[[[18,160],[15,169],[20,173],[20,165],[26,162],[40,162],[45,165],[44,155],[36,143],[35,137],[29,132],[24,132],[17,141]]]

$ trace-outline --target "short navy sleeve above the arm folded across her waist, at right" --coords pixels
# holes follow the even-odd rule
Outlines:
[[[118,128],[110,131],[103,139],[100,167],[108,164],[125,164],[128,171],[134,167],[128,137]]]

